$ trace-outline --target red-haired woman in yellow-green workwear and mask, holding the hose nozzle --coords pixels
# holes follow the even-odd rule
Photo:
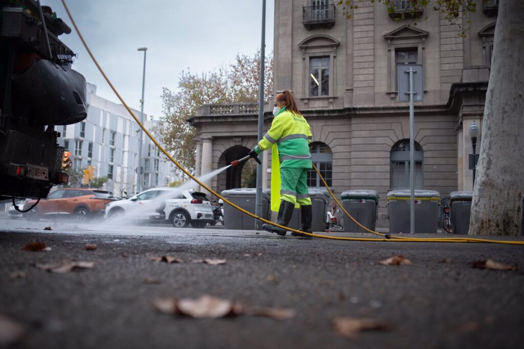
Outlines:
[[[311,198],[308,193],[307,177],[311,170],[309,142],[312,134],[308,122],[298,111],[291,91],[286,90],[275,97],[275,118],[271,128],[258,145],[249,153],[256,157],[272,147],[271,157],[271,210],[276,211],[277,224],[287,227],[295,206],[300,206],[301,231],[311,233]],[[280,174],[280,175],[279,175]],[[286,235],[286,230],[271,224],[262,228],[272,233]],[[291,235],[309,238],[308,235],[291,232]]]

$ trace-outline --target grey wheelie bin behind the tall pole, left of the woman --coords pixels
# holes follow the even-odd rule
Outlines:
[[[221,195],[243,209],[255,213],[255,188],[240,188],[224,190]],[[271,199],[269,189],[262,192],[262,210],[260,217],[269,219],[269,200]],[[224,229],[254,230],[255,218],[237,210],[224,202]]]

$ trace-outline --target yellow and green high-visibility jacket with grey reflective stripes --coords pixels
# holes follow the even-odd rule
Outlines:
[[[280,167],[311,168],[311,139],[311,129],[304,117],[283,110],[273,119],[271,128],[258,142],[255,151],[260,153],[276,143]]]

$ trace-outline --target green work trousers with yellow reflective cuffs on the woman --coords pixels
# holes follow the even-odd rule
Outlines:
[[[280,199],[299,204],[311,205],[308,192],[308,171],[310,168],[280,168]]]

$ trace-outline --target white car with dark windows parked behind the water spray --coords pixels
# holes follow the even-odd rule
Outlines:
[[[213,208],[204,193],[177,188],[151,188],[129,199],[110,202],[105,217],[168,220],[176,228],[204,228],[213,221]]]

